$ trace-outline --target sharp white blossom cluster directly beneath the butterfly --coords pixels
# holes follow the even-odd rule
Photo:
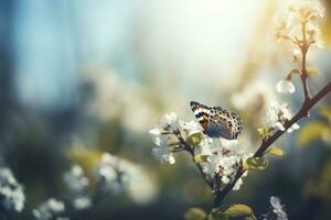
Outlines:
[[[175,162],[173,153],[181,150],[182,143],[178,135],[182,135],[188,144],[191,135],[196,135],[199,143],[194,146],[196,163],[200,163],[204,174],[214,177],[220,175],[222,183],[227,184],[243,165],[244,161],[252,156],[239,144],[237,140],[227,141],[211,139],[202,133],[202,128],[196,121],[183,122],[175,113],[164,114],[158,127],[149,131],[157,147],[152,148],[152,154],[161,161],[173,164]],[[191,146],[193,147],[193,146]],[[245,175],[244,175],[245,176]],[[234,190],[239,189],[243,180],[239,179]]]

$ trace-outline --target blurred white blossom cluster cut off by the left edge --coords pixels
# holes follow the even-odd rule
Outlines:
[[[13,207],[19,212],[23,210],[25,201],[23,187],[6,167],[0,168],[0,195],[4,207],[9,209]]]

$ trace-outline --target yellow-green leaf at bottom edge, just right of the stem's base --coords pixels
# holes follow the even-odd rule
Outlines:
[[[256,217],[254,216],[254,211],[249,206],[241,204],[222,208],[213,208],[209,216],[209,220],[231,219],[256,220]]]

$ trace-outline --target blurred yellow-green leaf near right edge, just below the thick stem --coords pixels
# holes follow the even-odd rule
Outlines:
[[[299,144],[306,146],[312,141],[321,138],[322,133],[328,129],[328,124],[322,122],[307,123],[299,133]]]

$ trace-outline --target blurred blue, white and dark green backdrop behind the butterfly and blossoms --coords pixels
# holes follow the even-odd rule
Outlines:
[[[298,78],[293,95],[275,90],[293,68],[274,36],[285,2],[1,0],[0,162],[26,197],[10,219],[33,219],[32,209],[65,195],[63,173],[87,167],[89,154],[100,152],[129,161],[146,178],[135,195],[109,196],[90,219],[182,219],[189,207],[209,210],[213,198],[190,157],[160,164],[148,130],[171,111],[193,120],[189,102],[197,100],[243,116],[254,151],[271,99],[298,110]],[[331,2],[323,4],[325,45],[308,56],[319,69],[312,94],[331,80]],[[279,196],[289,219],[330,219],[330,107],[329,96],[276,143],[286,155],[252,173],[226,202],[264,213],[269,197]]]

